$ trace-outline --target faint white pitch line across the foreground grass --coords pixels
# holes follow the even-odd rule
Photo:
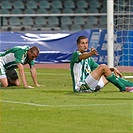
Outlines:
[[[36,104],[36,103],[26,103],[26,102],[17,102],[17,101],[6,101],[0,100],[1,103],[12,103],[12,104],[22,104],[36,107],[81,107],[81,106],[122,106],[127,105],[127,103],[121,104],[68,104],[68,105],[47,105],[47,104]]]

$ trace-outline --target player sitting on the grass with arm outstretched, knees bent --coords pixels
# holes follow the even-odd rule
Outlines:
[[[72,54],[70,61],[71,77],[74,92],[93,92],[111,82],[120,91],[133,92],[133,82],[122,78],[116,68],[109,68],[106,64],[98,65],[91,56],[98,55],[96,49],[88,50],[88,38],[79,36],[78,50]]]

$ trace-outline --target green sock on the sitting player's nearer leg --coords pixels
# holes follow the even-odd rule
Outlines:
[[[113,73],[110,76],[106,77],[106,79],[116,87],[118,87],[120,91],[124,91],[126,89],[126,86],[118,78],[116,78]]]

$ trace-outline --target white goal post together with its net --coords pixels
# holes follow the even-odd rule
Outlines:
[[[108,66],[133,78],[133,0],[107,0]]]

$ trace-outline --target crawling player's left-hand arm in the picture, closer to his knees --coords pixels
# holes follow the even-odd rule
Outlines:
[[[28,86],[27,82],[26,82],[26,76],[25,76],[25,72],[24,72],[24,66],[21,63],[17,63],[18,66],[18,71],[19,71],[19,75],[20,78],[22,80],[22,83],[24,85],[25,88],[33,88],[31,86]]]

